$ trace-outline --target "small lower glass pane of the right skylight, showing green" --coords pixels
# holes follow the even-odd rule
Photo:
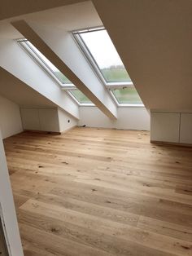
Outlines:
[[[111,91],[119,104],[142,104],[142,99],[137,94],[134,86]]]

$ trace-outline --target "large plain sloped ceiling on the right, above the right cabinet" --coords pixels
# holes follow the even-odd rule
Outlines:
[[[192,109],[192,1],[93,2],[146,108]]]

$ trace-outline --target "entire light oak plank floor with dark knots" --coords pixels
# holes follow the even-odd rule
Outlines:
[[[89,128],[6,139],[24,255],[192,255],[192,148],[149,140]]]

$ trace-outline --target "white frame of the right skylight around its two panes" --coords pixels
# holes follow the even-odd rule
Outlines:
[[[84,40],[81,38],[81,33],[90,33],[99,30],[106,30],[103,26],[89,28],[89,29],[78,29],[72,30],[72,38],[74,38],[77,45],[80,47],[82,53],[85,55],[86,60],[88,60],[89,65],[94,70],[94,73],[97,75],[99,80],[102,82],[103,86],[107,88],[109,91],[109,95],[111,95],[111,99],[113,99],[117,105],[117,107],[144,107],[144,104],[120,104],[116,99],[116,96],[113,94],[113,89],[120,89],[123,87],[134,86],[133,82],[107,82],[99,68],[97,61],[94,59],[94,56],[89,51],[88,46],[86,46]]]

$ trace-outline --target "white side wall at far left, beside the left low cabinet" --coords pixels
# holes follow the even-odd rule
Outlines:
[[[20,117],[20,107],[0,95],[0,129],[5,139],[23,131]]]

